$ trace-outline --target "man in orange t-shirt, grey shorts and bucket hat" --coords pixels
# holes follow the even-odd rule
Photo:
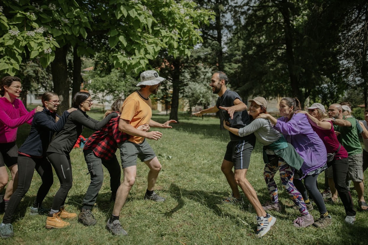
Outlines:
[[[169,124],[176,123],[176,120],[158,123],[151,119],[152,103],[149,96],[157,93],[161,82],[164,80],[166,79],[160,77],[156,71],[142,72],[141,82],[137,84],[137,87],[140,87],[140,89],[130,94],[121,108],[119,130],[132,137],[118,144],[124,181],[117,190],[113,213],[106,225],[107,230],[114,235],[127,235],[127,232],[121,227],[119,214],[135,182],[138,157],[149,167],[148,187],[144,199],[156,202],[165,201],[165,198],[160,197],[153,191],[161,170],[161,164],[152,147],[145,140],[145,138],[159,140],[162,137],[162,133],[159,131],[144,132],[137,129],[138,126],[144,124],[148,124],[150,127],[171,128]]]

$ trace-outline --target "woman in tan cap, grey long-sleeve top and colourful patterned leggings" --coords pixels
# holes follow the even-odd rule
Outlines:
[[[313,217],[309,214],[302,195],[293,183],[294,167],[300,168],[303,159],[298,155],[294,147],[290,143],[287,143],[285,138],[273,128],[270,120],[257,118],[260,114],[267,113],[266,99],[263,97],[256,97],[253,100],[249,100],[249,102],[251,102],[249,115],[253,119],[252,122],[241,129],[229,127],[225,122],[224,127],[231,133],[239,135],[240,137],[254,133],[259,143],[265,146],[263,150],[267,156],[265,156],[266,159],[264,158],[265,169],[263,177],[267,184],[271,202],[267,201],[262,207],[266,211],[281,211],[281,205],[277,195],[277,185],[274,180],[275,174],[279,171],[281,183],[300,212],[300,217],[294,220],[294,226],[308,226],[314,222]],[[301,222],[305,220],[308,221],[307,224]]]

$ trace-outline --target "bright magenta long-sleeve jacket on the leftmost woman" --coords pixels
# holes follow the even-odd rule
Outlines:
[[[0,98],[0,143],[10,143],[17,139],[17,130],[23,123],[32,123],[36,109],[28,112],[22,101],[15,99],[10,103],[7,98]]]

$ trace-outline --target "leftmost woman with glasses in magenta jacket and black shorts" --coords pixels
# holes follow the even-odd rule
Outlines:
[[[6,167],[10,170],[11,180],[6,188],[4,197],[1,195],[0,209],[6,208],[7,203],[18,185],[18,147],[15,144],[17,139],[17,127],[23,123],[32,123],[32,118],[36,112],[42,111],[42,107],[37,107],[28,112],[22,101],[17,98],[22,91],[21,80],[14,76],[6,76],[1,79],[0,88],[0,192],[8,183],[9,176]],[[5,206],[4,206],[5,205]],[[1,211],[1,210],[0,210]],[[4,211],[4,210],[2,210]]]

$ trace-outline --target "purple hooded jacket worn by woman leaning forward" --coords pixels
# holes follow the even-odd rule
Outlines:
[[[309,124],[307,115],[297,113],[289,121],[287,120],[286,117],[278,118],[274,128],[284,134],[287,142],[292,144],[304,159],[301,166],[302,178],[304,178],[309,172],[326,164],[326,147]]]

